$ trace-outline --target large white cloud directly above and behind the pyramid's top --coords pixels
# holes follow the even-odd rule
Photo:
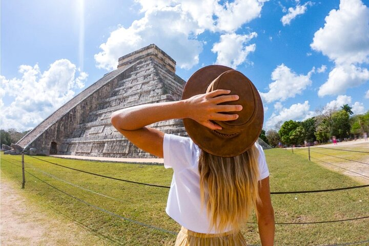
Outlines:
[[[110,33],[106,43],[100,45],[101,51],[94,56],[98,68],[115,69],[120,56],[156,44],[172,56],[180,68],[189,69],[198,64],[202,51],[202,42],[197,39],[199,34],[206,30],[233,32],[259,17],[266,1],[236,0],[224,5],[218,0],[136,2],[145,16],[128,28],[118,26]]]

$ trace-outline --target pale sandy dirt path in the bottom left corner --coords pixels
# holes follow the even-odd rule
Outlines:
[[[1,245],[109,245],[88,230],[55,216],[22,194],[17,184],[1,178]]]

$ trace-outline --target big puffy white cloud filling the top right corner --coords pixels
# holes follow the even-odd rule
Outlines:
[[[360,0],[341,0],[338,10],[325,17],[310,45],[336,64],[354,64],[368,61],[369,8]]]

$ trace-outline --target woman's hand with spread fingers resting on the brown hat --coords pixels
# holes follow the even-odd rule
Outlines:
[[[223,114],[220,112],[241,111],[241,105],[219,105],[227,101],[236,101],[238,95],[228,95],[229,90],[215,90],[205,94],[195,95],[186,99],[188,118],[196,120],[199,124],[212,130],[222,129],[213,120],[228,121],[238,118],[238,114]]]

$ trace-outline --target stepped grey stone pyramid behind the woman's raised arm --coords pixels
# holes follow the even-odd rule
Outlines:
[[[17,144],[46,155],[152,157],[116,131],[110,116],[135,105],[179,100],[186,81],[175,74],[175,65],[175,60],[156,45],[122,56],[116,70],[61,106]],[[151,127],[187,135],[178,119]]]

